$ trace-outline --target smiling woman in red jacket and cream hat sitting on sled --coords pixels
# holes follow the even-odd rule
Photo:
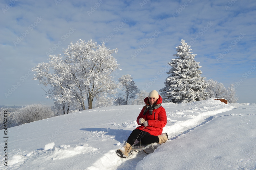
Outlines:
[[[164,143],[168,140],[167,133],[162,134],[163,127],[167,122],[165,109],[161,106],[162,100],[156,90],[151,91],[144,99],[146,106],[142,108],[137,117],[137,123],[140,126],[132,131],[124,148],[116,151],[118,156],[127,158],[136,140],[144,144]]]

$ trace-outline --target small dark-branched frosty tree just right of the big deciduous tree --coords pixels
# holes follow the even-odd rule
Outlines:
[[[122,91],[124,91],[124,94],[120,94],[120,96],[122,96],[121,98],[123,98],[124,101],[121,100],[121,98],[118,98],[116,103],[122,105],[119,101],[121,100],[123,102],[123,105],[127,105],[129,103],[129,99],[134,99],[136,94],[138,94],[140,90],[137,86],[135,86],[135,82],[129,74],[123,75],[118,79],[118,81],[122,87]]]

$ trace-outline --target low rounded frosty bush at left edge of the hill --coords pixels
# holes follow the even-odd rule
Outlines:
[[[31,104],[24,108],[19,108],[15,112],[15,119],[19,125],[47,119],[53,116],[54,114],[51,108],[42,104]]]

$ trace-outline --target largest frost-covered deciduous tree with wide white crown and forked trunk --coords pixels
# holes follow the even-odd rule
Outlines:
[[[113,53],[118,49],[109,50],[104,43],[98,45],[92,40],[70,43],[63,50],[64,57],[50,55],[49,63],[39,63],[33,71],[34,80],[39,80],[46,89],[49,98],[59,103],[79,103],[86,109],[92,108],[94,98],[101,93],[116,94],[118,85],[111,73],[119,68]]]

